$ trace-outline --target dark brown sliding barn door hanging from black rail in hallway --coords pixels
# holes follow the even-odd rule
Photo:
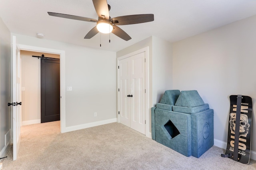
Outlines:
[[[41,59],[41,123],[60,120],[60,60]]]

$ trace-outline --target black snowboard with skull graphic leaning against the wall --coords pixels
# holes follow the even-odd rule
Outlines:
[[[239,129],[236,129],[236,127]],[[222,157],[228,157],[242,164],[248,164],[250,160],[251,129],[252,98],[249,96],[231,95],[228,143],[225,155],[222,154]]]

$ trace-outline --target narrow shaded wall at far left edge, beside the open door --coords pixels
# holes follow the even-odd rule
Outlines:
[[[10,31],[0,18],[0,157],[7,151],[10,140],[5,134],[10,129]],[[8,135],[10,139],[10,133]]]

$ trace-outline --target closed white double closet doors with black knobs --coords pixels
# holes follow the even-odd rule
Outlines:
[[[145,135],[145,53],[121,59],[118,66],[119,122]]]

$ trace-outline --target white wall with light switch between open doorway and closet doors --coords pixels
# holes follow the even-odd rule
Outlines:
[[[66,127],[76,130],[95,122],[116,121],[116,53],[12,35],[17,44],[65,51],[65,84],[72,86],[66,92]]]

